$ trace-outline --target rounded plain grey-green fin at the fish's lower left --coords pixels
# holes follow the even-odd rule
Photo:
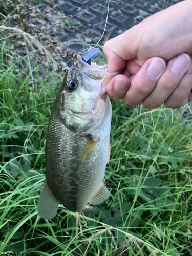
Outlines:
[[[46,183],[40,194],[38,215],[43,219],[52,219],[57,213],[58,205],[58,200],[53,196],[48,184]]]

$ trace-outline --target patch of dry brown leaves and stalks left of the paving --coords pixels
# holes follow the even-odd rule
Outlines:
[[[68,22],[66,15],[55,10],[54,6],[51,8],[49,3],[42,10],[29,2],[14,1],[1,16],[0,37],[8,42],[6,46],[9,46],[9,54],[15,62],[16,56],[27,56],[31,64],[38,61],[39,65],[58,70],[62,75],[73,62],[76,52],[66,50],[65,44],[47,31],[62,28],[64,20]],[[9,61],[5,57],[5,62],[6,59]]]

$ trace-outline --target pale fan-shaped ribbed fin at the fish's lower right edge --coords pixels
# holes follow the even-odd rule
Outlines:
[[[103,182],[101,182],[99,189],[95,196],[90,200],[90,204],[98,205],[104,203],[106,200],[108,200],[111,196],[110,191],[105,187]]]

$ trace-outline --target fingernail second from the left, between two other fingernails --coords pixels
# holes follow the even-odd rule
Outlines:
[[[146,74],[150,80],[155,80],[163,73],[165,67],[166,63],[163,59],[154,58],[148,67]]]

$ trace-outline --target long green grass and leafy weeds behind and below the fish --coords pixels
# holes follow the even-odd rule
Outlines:
[[[62,77],[38,59],[19,57],[9,41],[0,44],[0,254],[192,255],[192,127],[180,114],[187,106],[130,109],[111,99],[105,183],[112,197],[99,216],[80,216],[76,240],[76,216],[62,205],[51,221],[37,215],[47,125]]]

